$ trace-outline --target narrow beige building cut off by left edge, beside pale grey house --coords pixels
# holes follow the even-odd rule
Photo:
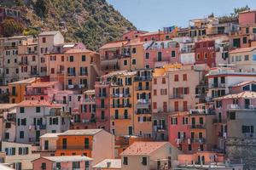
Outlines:
[[[16,138],[16,104],[0,105],[0,140],[15,142]]]

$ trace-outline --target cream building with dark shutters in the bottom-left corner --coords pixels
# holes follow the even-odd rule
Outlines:
[[[1,151],[5,151],[5,163],[11,164],[16,170],[32,169],[32,161],[40,157],[32,153],[31,144],[1,142]]]

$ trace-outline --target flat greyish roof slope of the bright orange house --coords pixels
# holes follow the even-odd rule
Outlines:
[[[103,129],[74,129],[74,130],[67,130],[64,133],[61,133],[59,136],[83,136],[83,135],[90,135],[93,136],[96,133],[103,131]]]

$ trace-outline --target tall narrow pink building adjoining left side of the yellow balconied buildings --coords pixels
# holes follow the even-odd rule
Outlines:
[[[105,82],[96,82],[96,127],[104,128],[110,132],[110,101],[109,84]]]

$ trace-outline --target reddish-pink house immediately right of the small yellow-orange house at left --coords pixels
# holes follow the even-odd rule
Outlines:
[[[61,91],[63,85],[60,82],[36,82],[26,87],[26,99],[29,100],[55,100],[55,94]]]

